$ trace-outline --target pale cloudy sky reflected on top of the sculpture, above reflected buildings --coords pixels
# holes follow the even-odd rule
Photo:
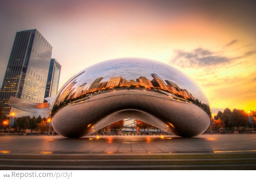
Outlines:
[[[204,92],[193,79],[182,71],[158,61],[142,58],[113,59],[103,61],[100,65],[95,64],[87,67],[77,74],[83,71],[86,72],[79,77],[74,87],[82,85],[84,82],[87,82],[88,85],[86,87],[89,87],[97,77],[104,77],[102,81],[105,82],[111,77],[117,77],[119,75],[122,75],[122,77],[127,80],[136,80],[136,78],[140,76],[152,79],[150,74],[156,73],[158,76],[161,76],[162,79],[168,79],[177,84],[181,89],[188,90],[195,99],[198,99],[202,103],[209,104]]]

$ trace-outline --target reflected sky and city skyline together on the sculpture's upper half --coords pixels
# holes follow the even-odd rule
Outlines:
[[[207,97],[192,79],[175,68],[145,59],[114,59],[80,71],[59,91],[52,113],[92,95],[122,89],[169,95],[170,99],[193,103],[211,116]]]

